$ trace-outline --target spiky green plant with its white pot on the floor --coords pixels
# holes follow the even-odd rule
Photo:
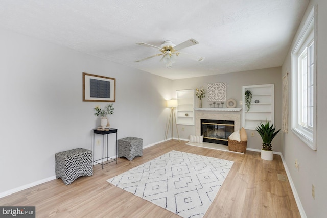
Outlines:
[[[264,160],[273,159],[271,141],[278,132],[281,131],[280,129],[276,131],[276,127],[273,126],[273,124],[270,126],[269,122],[266,121],[266,124],[260,123],[258,127],[255,128],[262,138],[261,159]]]

